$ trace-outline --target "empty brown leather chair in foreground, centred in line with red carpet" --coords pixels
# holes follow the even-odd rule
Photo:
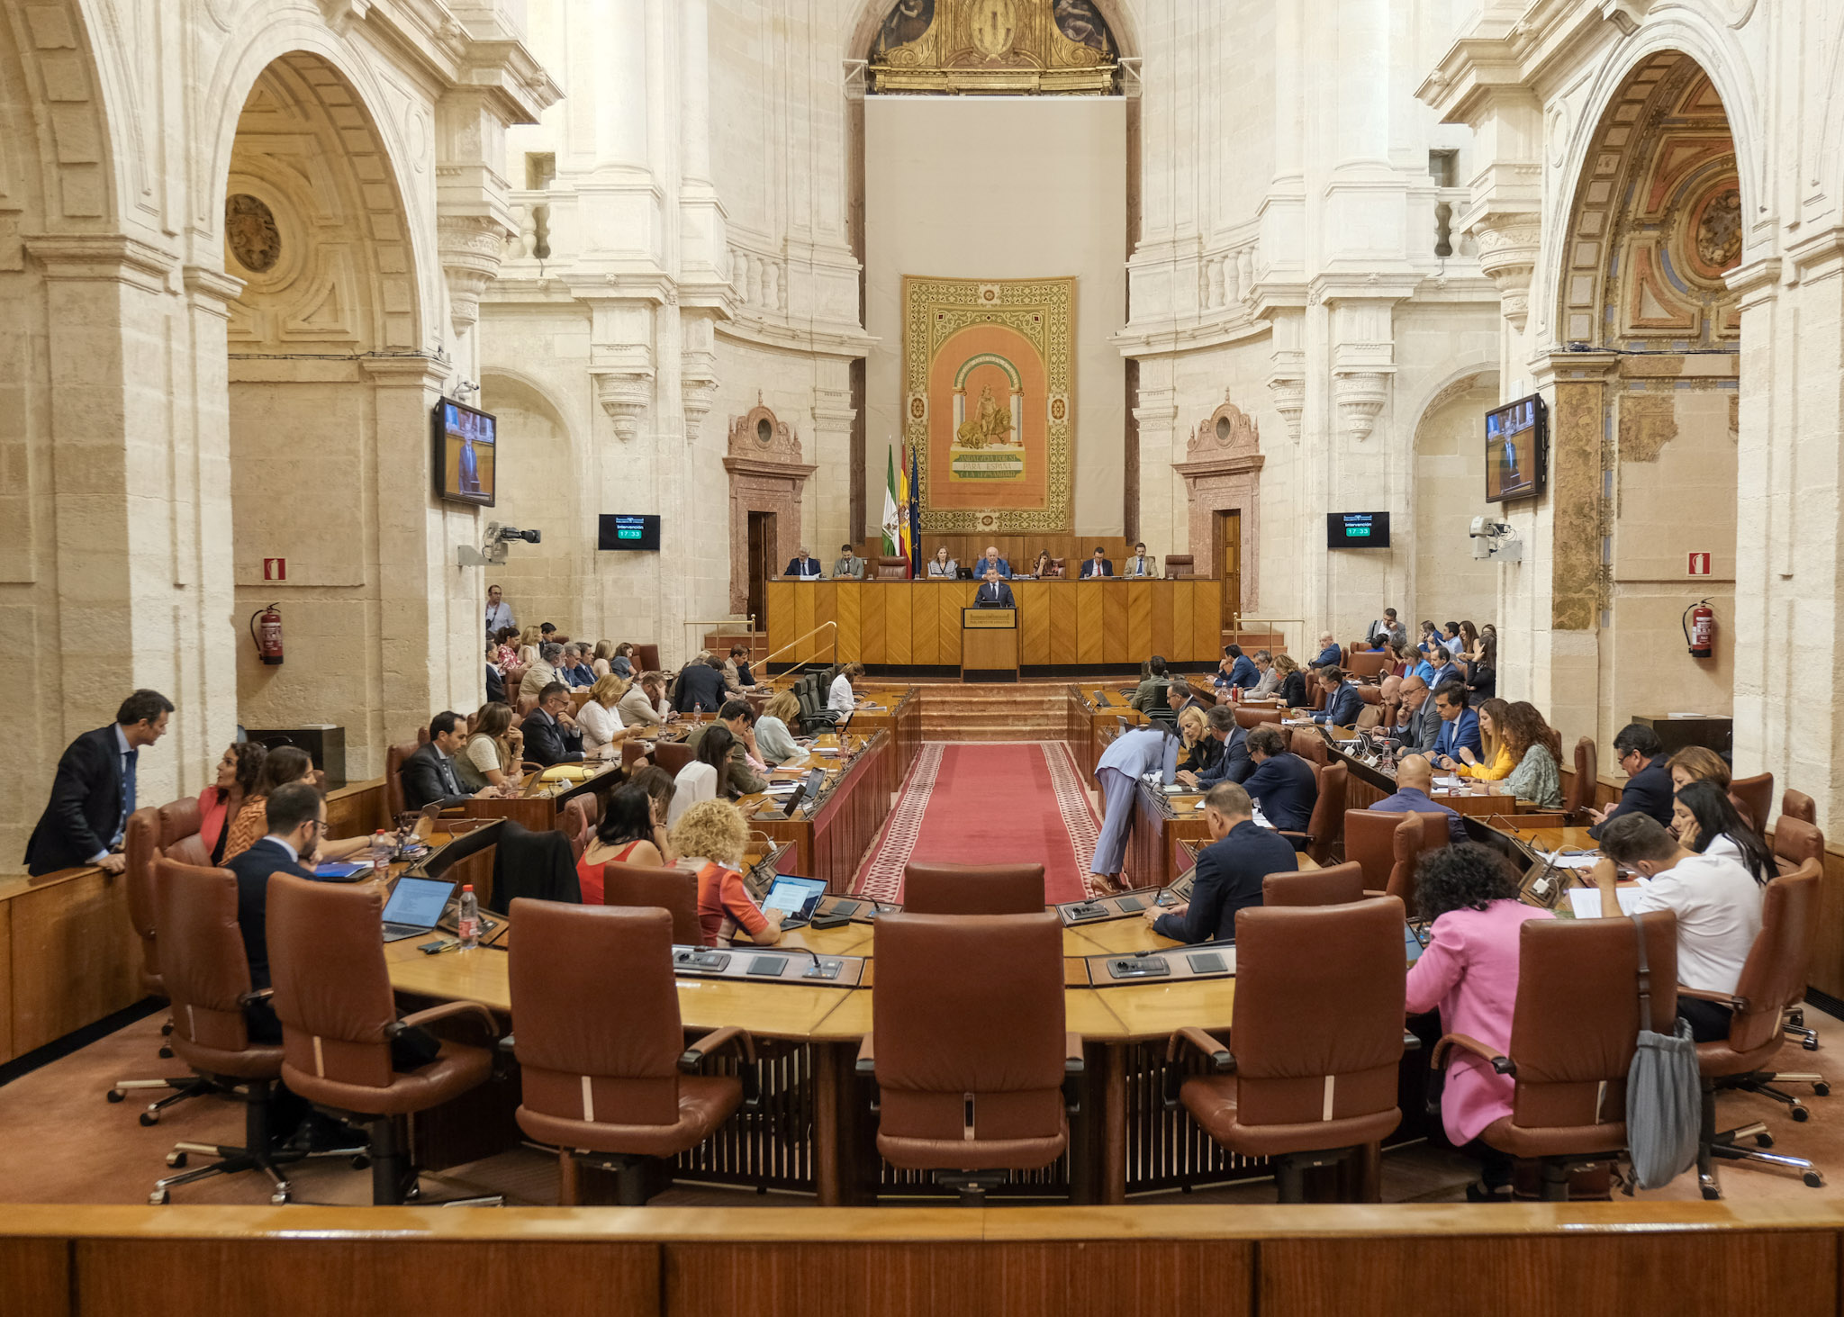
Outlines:
[[[857,1072],[878,1081],[887,1162],[979,1204],[1009,1171],[1062,1157],[1082,1040],[1064,1033],[1055,911],[880,917],[870,1013]]]

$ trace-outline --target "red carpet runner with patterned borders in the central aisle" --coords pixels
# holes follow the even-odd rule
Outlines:
[[[904,865],[1042,863],[1044,900],[1081,900],[1095,854],[1095,815],[1062,742],[929,743],[916,756],[857,880],[902,900]]]

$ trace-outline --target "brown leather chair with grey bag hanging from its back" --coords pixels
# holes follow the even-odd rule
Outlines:
[[[1649,1029],[1671,1035],[1678,1011],[1678,919],[1639,915],[1650,978]],[[1518,930],[1518,1003],[1507,1055],[1462,1033],[1435,1044],[1512,1075],[1512,1114],[1481,1138],[1542,1162],[1543,1199],[1567,1201],[1569,1173],[1626,1147],[1626,1072],[1639,1033],[1639,933],[1630,919],[1531,919]],[[1241,970],[1241,954],[1237,954]],[[1237,996],[1241,985],[1237,985]]]

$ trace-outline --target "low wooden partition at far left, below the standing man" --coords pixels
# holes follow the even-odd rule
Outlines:
[[[13,1051],[135,1005],[140,941],[127,922],[127,878],[100,869],[20,893],[13,920]]]

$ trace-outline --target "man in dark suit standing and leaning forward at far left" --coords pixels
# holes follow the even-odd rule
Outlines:
[[[65,747],[52,778],[52,799],[26,843],[26,872],[48,874],[76,865],[122,872],[122,834],[135,813],[135,764],[144,745],[166,734],[173,701],[136,690],[122,701],[109,727],[83,732]]]

